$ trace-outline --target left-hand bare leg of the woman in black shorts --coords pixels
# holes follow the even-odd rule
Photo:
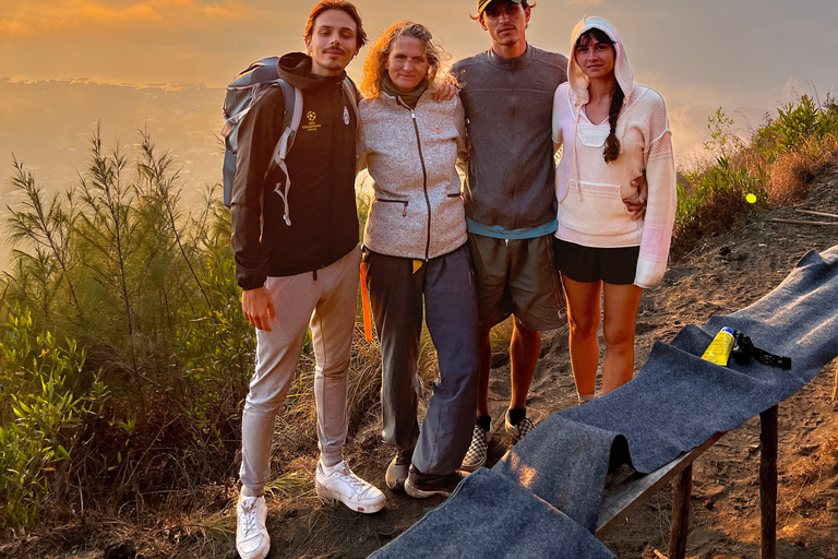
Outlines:
[[[597,329],[601,312],[602,282],[574,282],[562,278],[567,296],[567,322],[571,326],[570,349],[576,392],[590,396],[596,391],[599,367]]]

